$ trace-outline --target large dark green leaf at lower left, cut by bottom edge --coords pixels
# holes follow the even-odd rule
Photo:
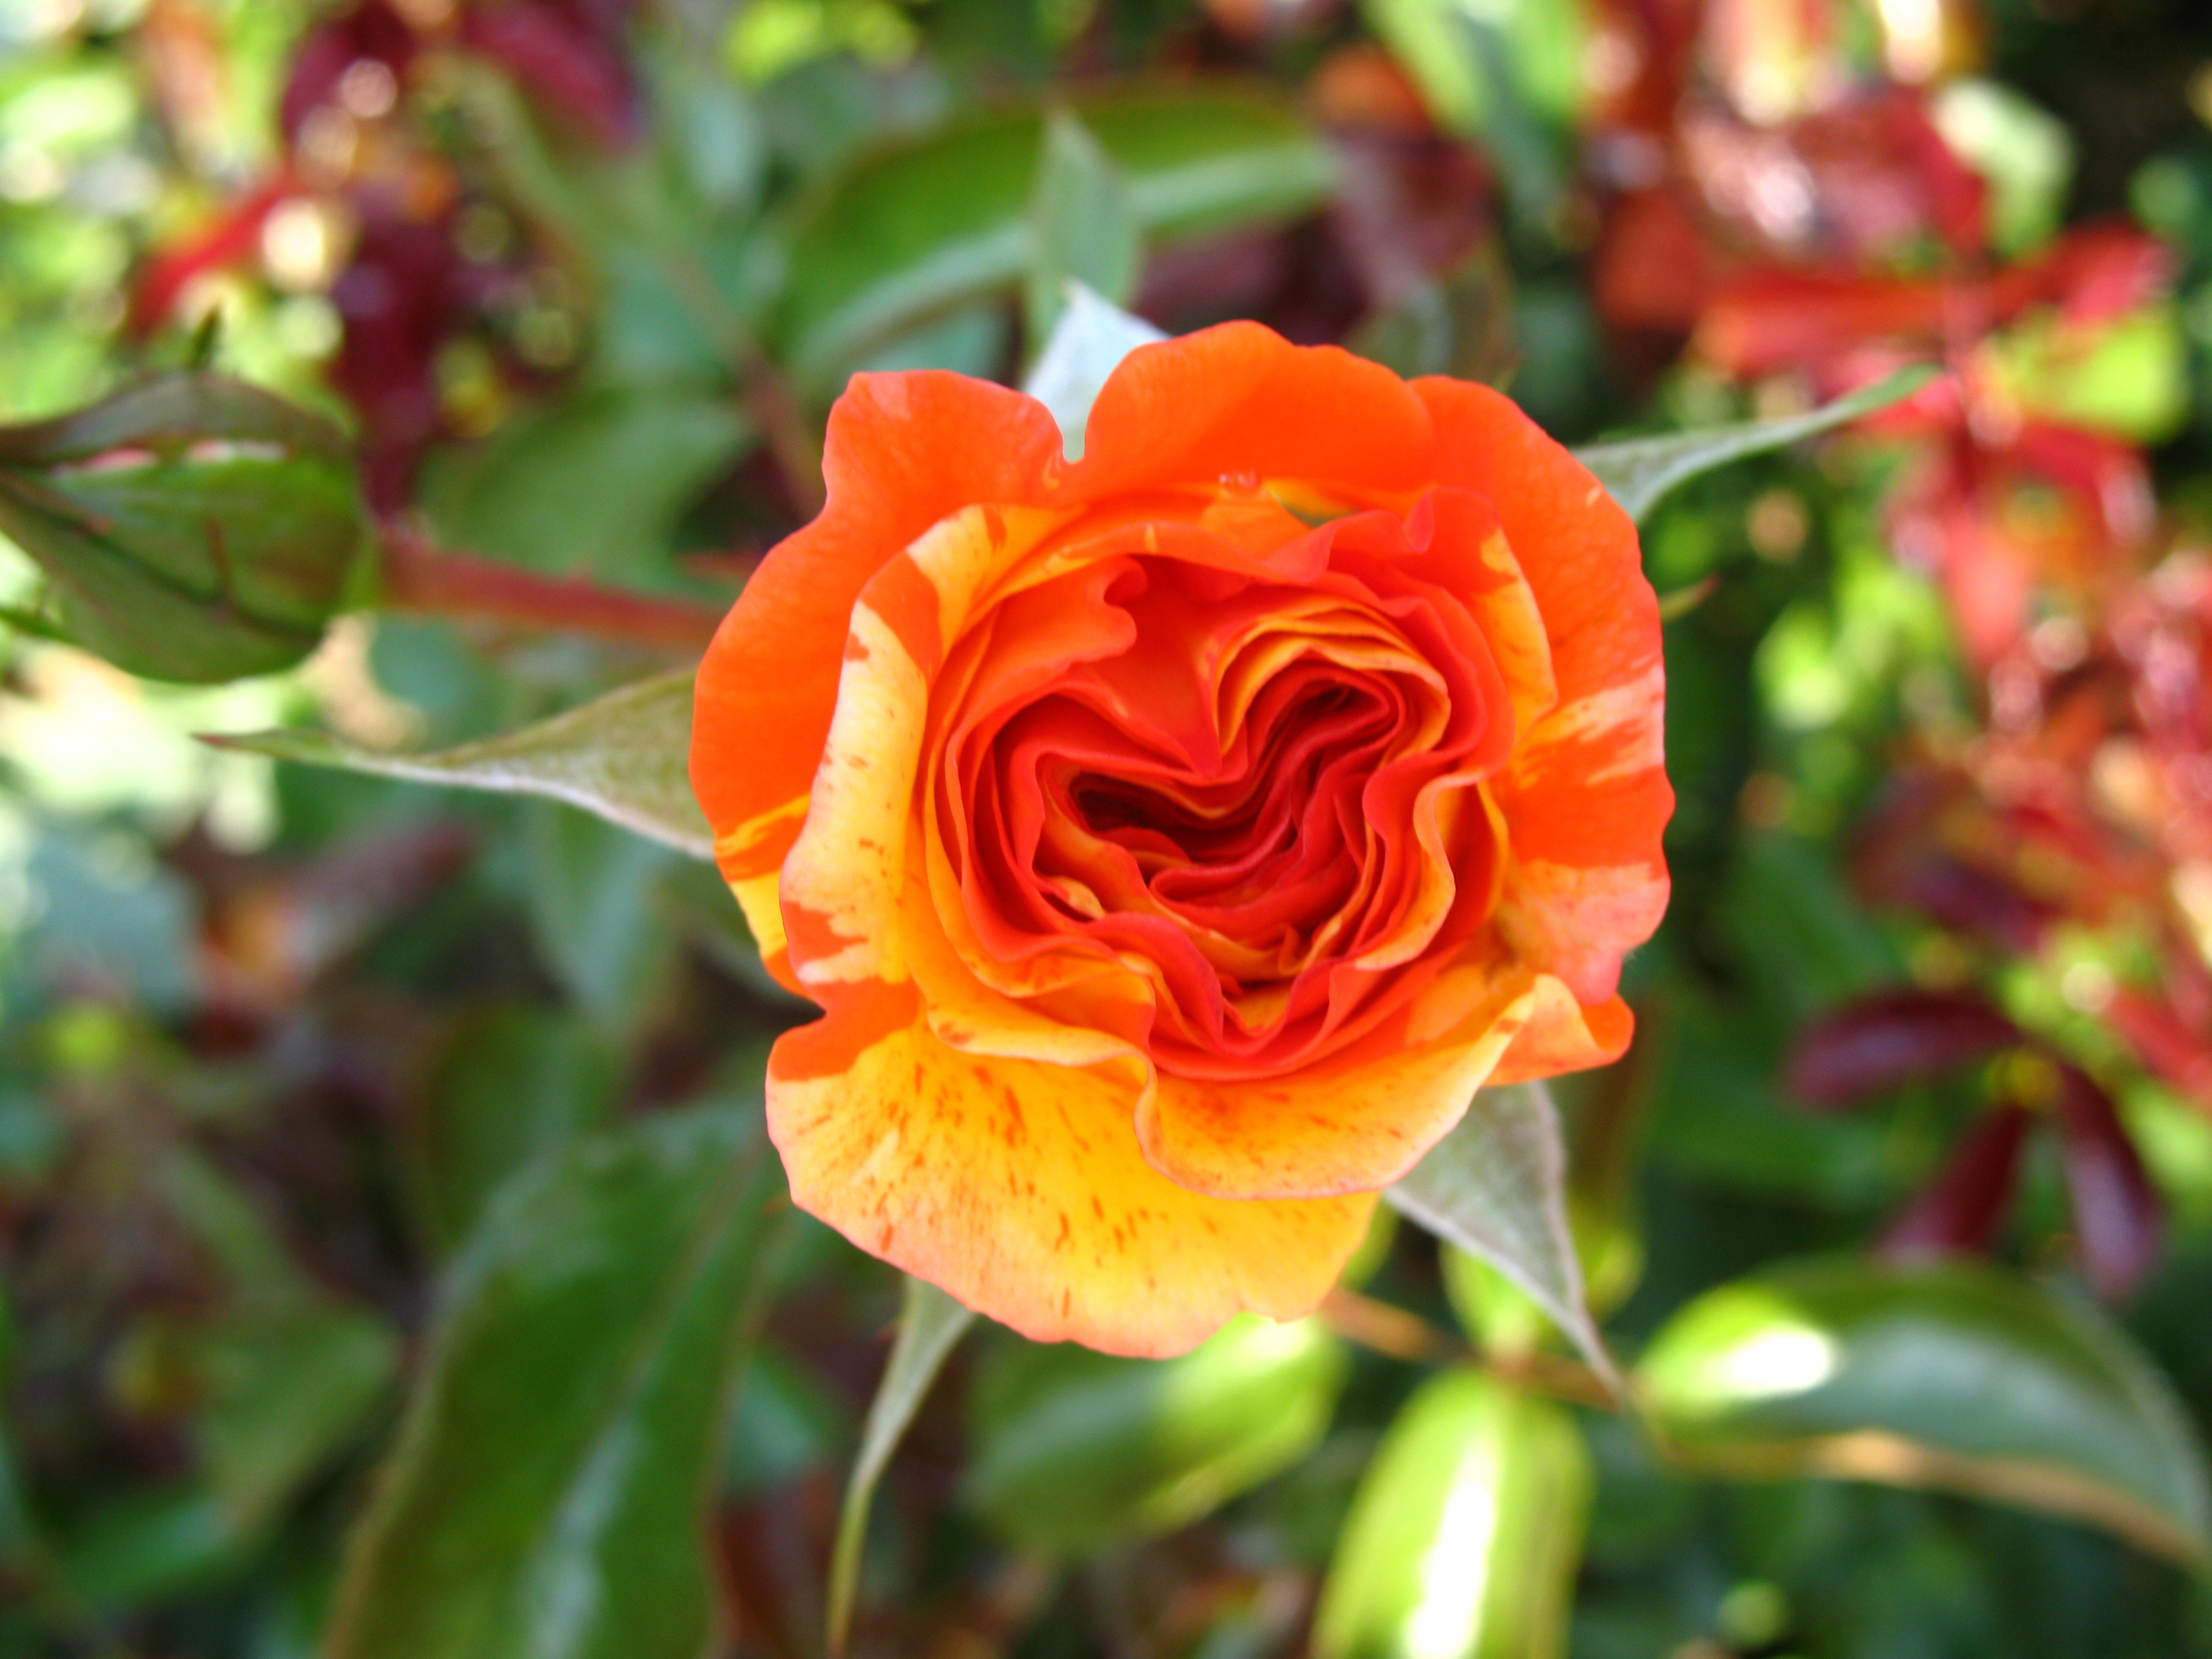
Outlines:
[[[580,1141],[456,1261],[325,1659],[697,1659],[701,1540],[781,1190],[745,1108]]]

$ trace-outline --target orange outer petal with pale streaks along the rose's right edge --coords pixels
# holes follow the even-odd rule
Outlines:
[[[1582,462],[1489,387],[1413,389],[1436,418],[1438,482],[1475,489],[1498,509],[1559,686],[1557,708],[1493,781],[1513,843],[1500,929],[1595,1006],[1668,898],[1659,838],[1674,790],[1663,770],[1659,604],[1635,524]]]

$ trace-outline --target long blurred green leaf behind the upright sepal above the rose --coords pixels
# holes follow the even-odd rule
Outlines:
[[[1148,88],[1075,104],[1148,241],[1296,217],[1332,186],[1327,148],[1287,102],[1245,88]],[[1015,288],[1033,261],[1044,122],[982,115],[878,148],[792,234],[776,338],[792,376],[836,392],[869,347]]]

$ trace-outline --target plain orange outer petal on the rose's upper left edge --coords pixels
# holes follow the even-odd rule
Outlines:
[[[781,542],[723,619],[692,701],[692,790],[770,969],[774,872],[805,816],[860,588],[971,502],[1035,502],[1060,469],[1051,414],[960,374],[863,374],[830,411],[821,518]]]

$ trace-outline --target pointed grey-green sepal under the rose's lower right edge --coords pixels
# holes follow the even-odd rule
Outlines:
[[[1467,1117],[1383,1197],[1520,1285],[1619,1391],[1566,1219],[1566,1148],[1544,1084],[1482,1088]]]

